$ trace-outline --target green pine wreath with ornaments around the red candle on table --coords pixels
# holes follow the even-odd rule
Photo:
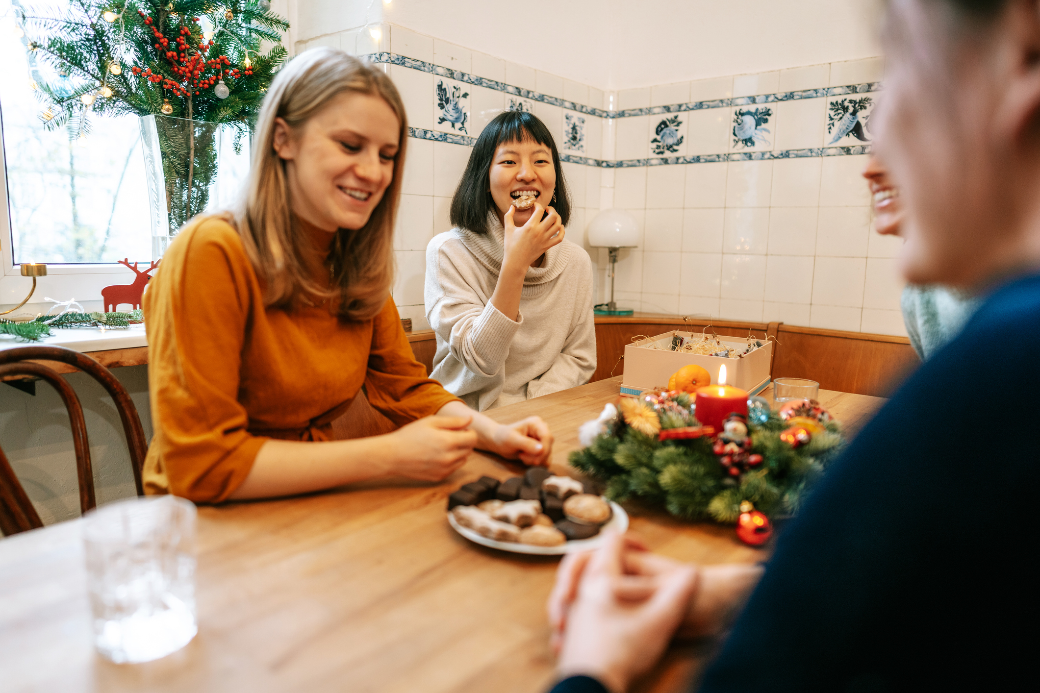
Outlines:
[[[698,435],[686,393],[621,398],[581,427],[586,447],[570,463],[604,481],[612,500],[640,499],[682,519],[736,524],[751,506],[773,518],[795,514],[844,445],[840,426],[809,401],[752,411],[750,421],[731,415],[717,436]]]

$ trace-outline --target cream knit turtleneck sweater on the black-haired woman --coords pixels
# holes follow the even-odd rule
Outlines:
[[[452,229],[426,246],[426,319],[437,332],[431,377],[483,411],[586,383],[596,370],[589,255],[564,240],[529,267],[514,321],[491,303],[504,232]]]

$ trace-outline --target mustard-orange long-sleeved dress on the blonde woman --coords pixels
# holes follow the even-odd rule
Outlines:
[[[326,249],[332,236],[302,224]],[[269,438],[328,441],[362,385],[398,426],[458,398],[426,377],[393,299],[345,322],[328,303],[264,308],[238,233],[204,217],[177,236],[145,294],[155,436],[145,490],[219,503]]]

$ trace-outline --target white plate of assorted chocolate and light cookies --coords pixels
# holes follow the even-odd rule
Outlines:
[[[470,541],[516,554],[558,556],[594,549],[628,514],[577,479],[532,468],[522,477],[482,477],[448,497],[448,524]]]

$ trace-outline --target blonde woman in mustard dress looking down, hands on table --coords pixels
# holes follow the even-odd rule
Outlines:
[[[438,481],[474,447],[547,463],[540,419],[472,411],[412,355],[390,298],[407,133],[390,79],[342,51],[275,79],[240,205],[189,222],[145,298],[148,492],[219,503]],[[401,428],[330,441],[362,387]]]

